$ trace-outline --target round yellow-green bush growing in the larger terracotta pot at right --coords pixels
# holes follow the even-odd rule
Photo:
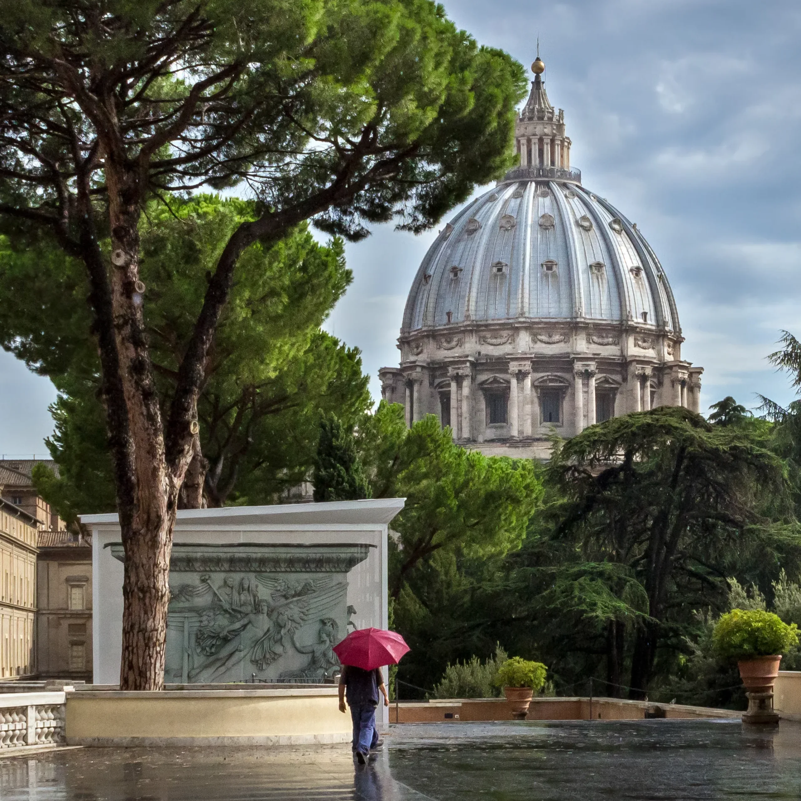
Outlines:
[[[798,626],[783,622],[779,615],[763,610],[734,609],[714,626],[712,645],[727,659],[778,656],[797,646]]]

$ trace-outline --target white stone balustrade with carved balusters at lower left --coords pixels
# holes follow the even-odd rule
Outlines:
[[[64,743],[61,692],[0,694],[0,753],[30,746]]]

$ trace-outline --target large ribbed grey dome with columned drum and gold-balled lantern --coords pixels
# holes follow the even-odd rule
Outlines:
[[[488,454],[547,458],[564,437],[658,405],[699,409],[673,294],[634,223],[581,185],[537,58],[521,166],[463,209],[417,272],[379,372],[411,425],[436,414]]]

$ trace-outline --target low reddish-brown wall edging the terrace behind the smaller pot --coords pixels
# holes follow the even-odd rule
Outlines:
[[[799,674],[801,675],[801,674]],[[738,712],[706,706],[657,704],[622,698],[534,698],[526,720],[642,720],[734,718]],[[391,704],[390,723],[464,723],[512,720],[505,698],[469,698]]]

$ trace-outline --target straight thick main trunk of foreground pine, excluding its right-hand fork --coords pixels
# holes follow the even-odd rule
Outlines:
[[[167,470],[159,398],[143,324],[147,288],[139,280],[138,175],[107,155],[111,222],[111,305],[130,459],[124,476],[134,497],[118,497],[125,551],[121,690],[159,690],[164,682],[172,529],[183,476]],[[107,398],[107,405],[119,402]],[[119,410],[110,409],[119,413]],[[119,482],[118,482],[119,484]]]

